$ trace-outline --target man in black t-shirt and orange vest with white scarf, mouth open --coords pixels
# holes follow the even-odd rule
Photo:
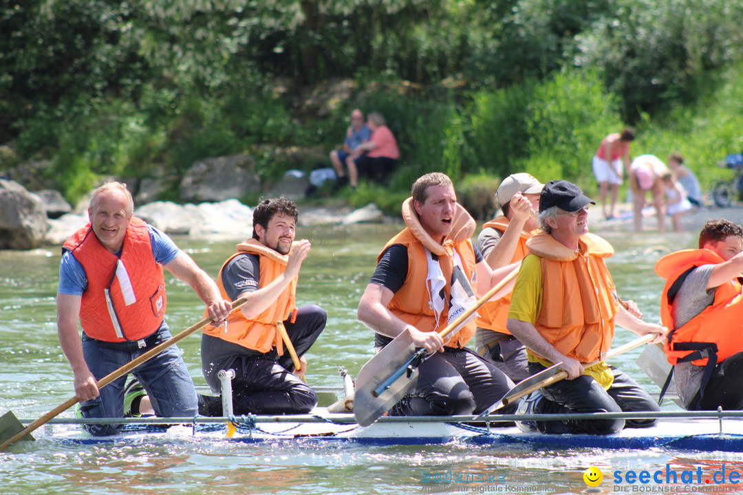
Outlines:
[[[463,308],[484,295],[515,266],[493,272],[470,237],[475,220],[457,203],[449,177],[426,174],[403,203],[406,229],[387,243],[359,302],[360,321],[376,332],[376,347],[409,330],[415,347],[429,353],[418,382],[392,407],[395,416],[479,413],[504,396],[513,381],[480,355],[464,347],[474,321],[441,338]],[[510,290],[507,286],[506,290]],[[441,351],[441,352],[437,352]]]

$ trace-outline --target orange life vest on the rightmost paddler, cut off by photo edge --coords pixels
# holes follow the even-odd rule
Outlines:
[[[710,358],[719,363],[743,351],[743,295],[737,278],[718,286],[713,304],[683,327],[676,328],[673,323],[672,294],[669,301],[673,284],[696,266],[722,262],[709,249],[684,249],[663,256],[655,264],[655,272],[666,281],[661,295],[661,321],[671,329],[664,346],[670,364],[699,357],[691,362],[704,366]]]

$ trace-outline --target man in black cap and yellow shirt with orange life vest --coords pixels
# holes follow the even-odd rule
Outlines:
[[[507,329],[528,348],[531,373],[562,362],[568,378],[522,399],[519,413],[659,410],[632,378],[601,361],[611,347],[614,323],[638,335],[657,333],[658,338],[667,329],[640,320],[619,304],[604,263],[614,249],[588,233],[591,204],[596,203],[566,180],[551,181],[539,198],[543,232],[527,242],[530,254],[516,279]],[[586,366],[594,361],[600,362]],[[652,419],[539,421],[536,428],[542,433],[605,435],[653,424]]]

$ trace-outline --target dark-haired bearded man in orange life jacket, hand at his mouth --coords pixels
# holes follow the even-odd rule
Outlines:
[[[307,239],[294,242],[296,204],[285,197],[263,200],[253,210],[253,238],[240,243],[222,265],[217,285],[225,298],[244,297],[241,311],[227,327],[207,327],[201,338],[201,368],[214,392],[219,370],[235,370],[236,414],[309,413],[317,404],[314,391],[294,373],[304,373],[302,356],[325,328],[325,310],[314,304],[295,307],[299,269],[310,252]],[[282,336],[283,322],[301,370],[295,370]],[[210,416],[221,416],[212,404]]]

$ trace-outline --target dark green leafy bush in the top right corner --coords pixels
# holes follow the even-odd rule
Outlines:
[[[577,37],[583,67],[603,68],[629,121],[709,87],[707,72],[736,59],[743,4],[707,0],[620,0],[610,16]]]

